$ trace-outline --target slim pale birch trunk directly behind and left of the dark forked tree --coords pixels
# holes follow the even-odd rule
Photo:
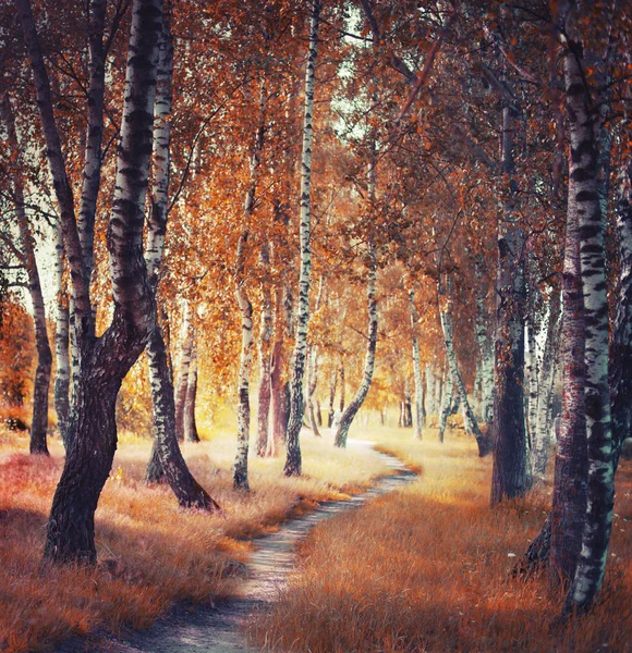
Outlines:
[[[69,305],[63,284],[63,243],[59,225],[54,226],[54,280],[56,280],[56,331],[54,331],[54,410],[57,426],[64,449],[69,448],[68,419],[70,415],[70,334]]]

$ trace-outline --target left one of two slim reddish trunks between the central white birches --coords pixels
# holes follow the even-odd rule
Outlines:
[[[260,261],[265,270],[270,267],[268,243],[262,245]],[[272,296],[267,280],[263,282],[262,289],[262,325],[259,331],[259,403],[257,408],[257,456],[264,457],[268,452],[270,395],[271,395],[271,366],[272,366]]]

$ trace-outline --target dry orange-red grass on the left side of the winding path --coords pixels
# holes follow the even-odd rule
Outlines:
[[[282,458],[253,459],[252,492],[244,494],[231,488],[232,433],[204,435],[210,441],[184,453],[224,516],[181,510],[168,488],[146,486],[150,443],[123,436],[96,515],[99,565],[86,570],[40,565],[61,444],[51,440],[51,458],[32,457],[26,435],[0,430],[1,651],[42,651],[72,634],[143,628],[175,602],[217,601],[239,583],[235,563],[247,556],[247,538],[385,471],[369,454],[352,457],[306,435],[305,478],[282,478]]]

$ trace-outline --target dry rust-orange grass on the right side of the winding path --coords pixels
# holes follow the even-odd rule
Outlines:
[[[632,466],[618,477],[608,572],[593,614],[556,625],[561,596],[546,576],[511,577],[537,533],[550,488],[488,507],[491,460],[471,440],[382,429],[382,448],[423,468],[421,479],[318,526],[301,568],[251,629],[269,650],[497,652],[632,650]]]

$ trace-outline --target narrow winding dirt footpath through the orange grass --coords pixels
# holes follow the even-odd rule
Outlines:
[[[373,445],[362,440],[349,440],[348,448],[373,448]],[[156,621],[148,630],[130,633],[124,640],[109,640],[100,650],[108,653],[255,653],[256,649],[245,644],[243,626],[255,611],[277,600],[294,568],[296,544],[318,522],[353,510],[416,478],[417,475],[393,456],[379,452],[375,455],[392,470],[391,476],[379,479],[373,488],[349,501],[323,503],[308,515],[282,523],[276,533],[254,540],[257,550],[247,563],[247,579],[238,596],[214,608],[196,606],[194,612],[175,608],[170,617]],[[75,648],[78,643],[69,642],[58,652],[85,651],[85,642]]]

